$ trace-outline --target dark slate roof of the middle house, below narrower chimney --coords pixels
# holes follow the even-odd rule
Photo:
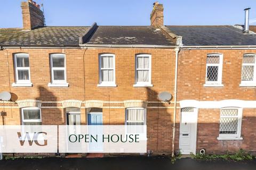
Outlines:
[[[175,45],[161,30],[151,26],[99,26],[86,44]]]

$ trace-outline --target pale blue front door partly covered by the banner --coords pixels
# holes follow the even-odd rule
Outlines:
[[[98,135],[98,141],[92,141],[89,143],[89,152],[102,152],[103,143],[102,143],[102,134],[103,127],[102,125],[102,113],[88,113],[88,133],[96,136]]]

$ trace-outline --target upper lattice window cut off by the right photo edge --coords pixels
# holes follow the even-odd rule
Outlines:
[[[243,56],[241,84],[254,84],[256,86],[255,54],[245,54]]]

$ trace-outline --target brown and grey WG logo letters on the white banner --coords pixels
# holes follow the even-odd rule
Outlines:
[[[25,136],[23,135],[23,139],[22,139],[22,136],[21,136],[21,133],[20,133],[20,132],[17,132],[17,134],[18,134],[18,137],[19,137],[20,145],[21,145],[21,146],[24,145],[25,141],[28,141],[29,146],[32,146],[32,145],[33,145],[33,142],[35,142],[36,145],[38,145],[38,146],[47,146],[47,140],[39,140],[40,143],[38,142],[38,135],[40,135],[40,134],[45,134],[45,135],[47,135],[46,132],[37,132],[37,133],[34,132],[34,135],[33,135],[33,138],[32,138],[32,139],[30,138],[30,135],[29,135],[28,132],[26,132],[26,135],[25,135]]]

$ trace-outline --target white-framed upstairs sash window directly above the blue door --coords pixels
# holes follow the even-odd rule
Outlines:
[[[98,86],[116,87],[114,54],[101,54],[99,56],[99,73]]]

